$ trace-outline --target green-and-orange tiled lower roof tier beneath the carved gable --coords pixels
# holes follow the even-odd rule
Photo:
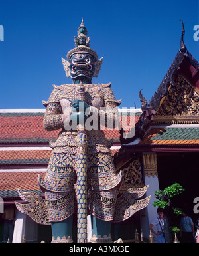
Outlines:
[[[136,153],[153,152],[173,154],[174,152],[199,152],[199,124],[151,125],[143,140],[137,138],[121,146],[114,156],[114,162],[121,166],[123,159],[130,159]]]

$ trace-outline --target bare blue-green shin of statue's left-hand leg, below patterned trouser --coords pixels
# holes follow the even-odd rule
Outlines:
[[[59,222],[51,222],[52,243],[72,243],[73,215]]]

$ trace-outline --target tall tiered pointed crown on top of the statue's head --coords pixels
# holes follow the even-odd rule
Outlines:
[[[90,55],[93,55],[96,60],[98,59],[97,53],[89,47],[90,37],[86,36],[87,32],[82,19],[80,27],[78,27],[78,37],[75,37],[74,39],[76,47],[68,52],[67,59],[70,59],[71,55],[74,55],[75,53],[89,53]]]

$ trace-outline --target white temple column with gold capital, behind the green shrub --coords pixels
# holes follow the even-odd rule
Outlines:
[[[149,224],[157,217],[157,208],[153,206],[155,201],[154,193],[159,190],[159,180],[157,173],[157,154],[143,154],[143,174],[145,177],[145,185],[149,184],[146,197],[151,195],[149,205],[141,211],[141,229],[143,230],[143,238],[149,239]]]

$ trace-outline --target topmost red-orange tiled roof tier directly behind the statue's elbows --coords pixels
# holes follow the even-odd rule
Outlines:
[[[12,112],[13,111],[13,112]],[[120,112],[121,122],[129,114]],[[141,110],[135,111],[135,122],[139,119]],[[0,146],[9,144],[44,144],[48,145],[49,140],[56,140],[60,130],[46,131],[43,127],[44,110],[2,110],[0,111]],[[107,139],[114,139],[119,142],[119,129],[105,130]],[[119,142],[120,144],[120,142]]]

